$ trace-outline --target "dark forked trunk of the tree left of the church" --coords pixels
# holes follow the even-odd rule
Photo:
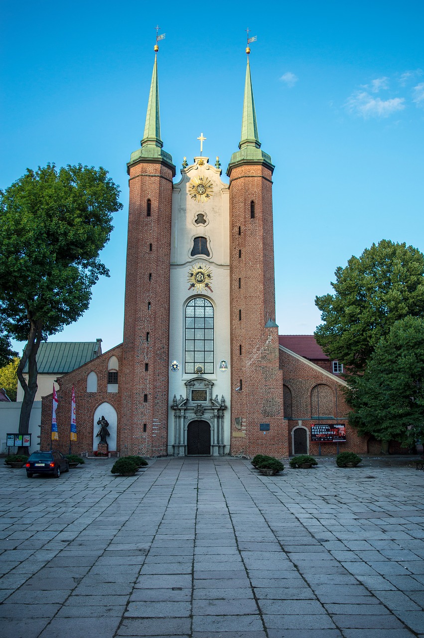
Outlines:
[[[29,432],[29,417],[31,417],[31,410],[33,409],[34,397],[36,395],[37,385],[37,361],[36,356],[38,348],[40,348],[42,338],[42,326],[38,322],[30,322],[30,329],[28,334],[27,345],[25,346],[22,359],[19,362],[17,369],[17,376],[24,390],[24,401],[20,408],[19,416],[19,434],[28,434]],[[24,367],[28,362],[28,383],[24,377]],[[18,447],[18,454],[28,454],[27,447]]]

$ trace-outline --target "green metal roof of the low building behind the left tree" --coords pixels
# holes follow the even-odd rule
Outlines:
[[[97,341],[50,341],[41,343],[37,353],[38,372],[64,375],[101,354],[101,339]],[[28,371],[28,364],[24,372]]]

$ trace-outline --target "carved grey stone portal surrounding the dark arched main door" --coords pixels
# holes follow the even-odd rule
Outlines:
[[[223,456],[225,399],[212,398],[214,383],[196,376],[185,383],[186,397],[173,397],[173,454]]]

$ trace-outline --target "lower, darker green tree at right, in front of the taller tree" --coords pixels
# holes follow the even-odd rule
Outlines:
[[[349,421],[361,434],[413,448],[424,438],[424,319],[407,316],[380,339],[349,389]]]

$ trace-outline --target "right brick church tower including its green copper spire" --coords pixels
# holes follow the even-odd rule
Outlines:
[[[270,156],[261,151],[250,49],[246,49],[242,134],[231,156],[230,341],[231,454],[288,456],[283,382],[275,323]]]

